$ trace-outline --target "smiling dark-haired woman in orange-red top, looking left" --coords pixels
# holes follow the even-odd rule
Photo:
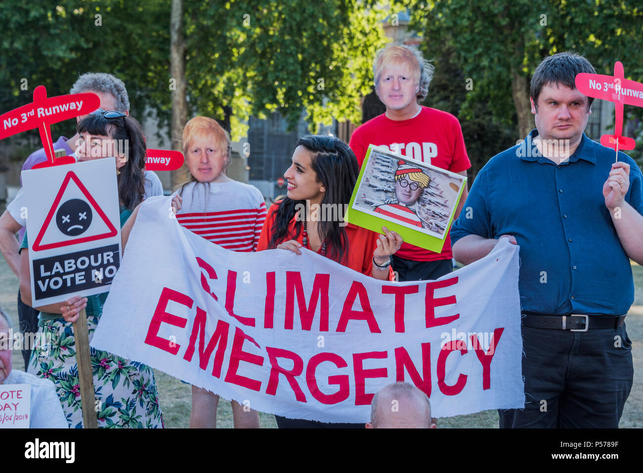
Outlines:
[[[291,167],[284,172],[288,181],[287,196],[268,210],[257,251],[280,248],[300,255],[302,248],[308,248],[362,274],[393,281],[390,257],[399,250],[402,237],[386,227],[382,228],[385,235],[378,235],[366,228],[341,223],[359,174],[357,159],[349,145],[332,136],[303,136],[291,162]],[[330,208],[339,209],[340,218],[338,221],[311,218],[313,205],[321,209],[331,205]],[[364,423],[275,418],[282,429],[364,428]]]

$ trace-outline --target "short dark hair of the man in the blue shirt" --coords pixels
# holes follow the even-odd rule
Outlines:
[[[563,86],[574,90],[576,88],[576,75],[581,72],[596,73],[590,61],[579,54],[568,52],[546,57],[543,62],[538,64],[531,78],[529,95],[534,99],[536,107],[538,107],[538,96],[544,86],[563,84]],[[588,97],[588,110],[592,106],[593,100],[593,97]]]

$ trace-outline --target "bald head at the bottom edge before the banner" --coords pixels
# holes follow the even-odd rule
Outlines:
[[[426,394],[403,382],[390,384],[373,397],[367,429],[430,429],[431,404]]]

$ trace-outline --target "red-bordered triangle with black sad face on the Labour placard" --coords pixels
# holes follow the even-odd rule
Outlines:
[[[33,250],[77,245],[118,234],[78,176],[69,171],[44,219]]]

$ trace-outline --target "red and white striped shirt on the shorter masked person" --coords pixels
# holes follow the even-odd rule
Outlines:
[[[226,250],[257,250],[266,220],[266,201],[257,187],[239,181],[191,182],[177,190],[183,205],[176,219],[183,227]]]

